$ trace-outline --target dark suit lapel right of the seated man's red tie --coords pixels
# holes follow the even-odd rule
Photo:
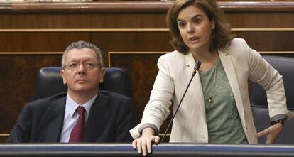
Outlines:
[[[109,101],[109,97],[104,96],[99,92],[89,112],[84,136],[85,142],[96,141],[97,136],[104,128],[105,123],[107,123],[107,117],[109,116],[107,104]]]

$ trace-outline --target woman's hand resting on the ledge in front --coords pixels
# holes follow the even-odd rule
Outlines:
[[[138,150],[138,153],[143,153],[146,156],[147,153],[152,152],[152,144],[158,144],[160,141],[159,136],[155,136],[155,131],[152,128],[145,128],[142,131],[142,136],[138,139],[134,139],[132,145],[133,148]]]

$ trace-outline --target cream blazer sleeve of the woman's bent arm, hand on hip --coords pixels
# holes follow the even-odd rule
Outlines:
[[[283,77],[259,53],[251,48],[249,51],[249,79],[266,90],[271,121],[275,117],[293,117],[293,113],[287,110]]]

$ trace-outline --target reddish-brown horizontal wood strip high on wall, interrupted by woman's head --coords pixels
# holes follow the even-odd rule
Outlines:
[[[226,13],[232,28],[293,28],[291,13]],[[287,19],[287,20],[285,20]],[[1,29],[167,28],[165,13],[0,14]],[[134,22],[136,21],[136,23]]]

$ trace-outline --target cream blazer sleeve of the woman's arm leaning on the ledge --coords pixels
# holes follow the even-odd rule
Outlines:
[[[131,136],[136,139],[141,136],[139,129],[144,124],[153,124],[160,129],[163,121],[170,114],[170,105],[174,96],[174,80],[170,75],[168,58],[166,55],[158,59],[158,75],[151,91],[151,96],[143,112],[141,123],[130,130]]]

